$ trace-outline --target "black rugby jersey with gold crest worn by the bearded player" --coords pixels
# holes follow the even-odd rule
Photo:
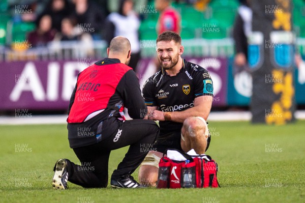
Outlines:
[[[181,111],[194,106],[194,99],[203,95],[213,96],[213,83],[207,70],[183,60],[183,67],[175,76],[161,69],[149,77],[143,86],[147,106],[158,106],[161,111]],[[161,121],[162,134],[181,130],[182,123]]]

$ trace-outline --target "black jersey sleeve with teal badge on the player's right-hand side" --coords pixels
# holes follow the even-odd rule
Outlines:
[[[213,81],[207,70],[203,69],[195,72],[194,77],[195,97],[213,96],[214,87]]]

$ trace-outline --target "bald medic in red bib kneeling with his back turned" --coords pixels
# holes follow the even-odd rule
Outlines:
[[[67,182],[85,188],[107,187],[112,150],[130,146],[111,176],[114,188],[141,187],[131,174],[146,154],[146,146],[159,134],[154,121],[143,120],[147,107],[135,72],[128,65],[130,42],[115,37],[108,58],[89,66],[77,77],[68,110],[68,139],[81,164],[59,159],[54,166],[53,188],[67,189]],[[124,107],[134,120],[125,121]]]

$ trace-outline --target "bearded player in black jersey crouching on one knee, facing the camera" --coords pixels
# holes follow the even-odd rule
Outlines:
[[[155,186],[158,163],[168,148],[204,154],[210,142],[206,124],[213,83],[207,70],[182,59],[184,47],[174,32],[163,32],[157,38],[157,55],[161,70],[147,79],[143,97],[148,108],[147,119],[160,121],[160,135],[139,169],[139,180]]]

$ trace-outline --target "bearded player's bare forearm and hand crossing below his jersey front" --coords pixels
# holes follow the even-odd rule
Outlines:
[[[177,123],[183,123],[189,117],[202,117],[203,119],[207,120],[212,106],[212,100],[212,96],[197,97],[194,100],[194,107],[183,111],[163,112],[155,109],[150,119],[155,121],[168,120]]]

